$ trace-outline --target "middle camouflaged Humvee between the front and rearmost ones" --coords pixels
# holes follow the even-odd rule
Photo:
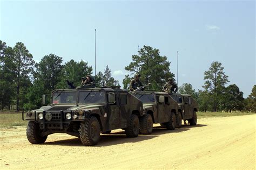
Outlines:
[[[140,117],[140,133],[150,134],[153,123],[160,123],[168,130],[176,128],[178,104],[167,93],[136,91],[132,94],[143,102],[145,115]]]

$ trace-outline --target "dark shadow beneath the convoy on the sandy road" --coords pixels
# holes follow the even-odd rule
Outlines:
[[[137,143],[143,140],[149,140],[152,138],[159,137],[161,134],[178,133],[178,132],[190,130],[191,128],[194,128],[194,127],[202,127],[202,126],[207,126],[207,125],[200,125],[200,124],[196,126],[183,125],[181,126],[181,128],[175,129],[175,130],[167,130],[163,126],[154,126],[151,134],[147,134],[147,135],[139,134],[137,138],[127,138],[125,131],[120,130],[117,132],[112,132],[110,134],[100,134],[99,143],[96,146],[91,146],[91,147],[110,146],[110,145],[118,145],[123,143]],[[46,141],[42,145],[84,146],[81,143],[79,138],[56,140],[56,141],[49,141],[49,142]]]

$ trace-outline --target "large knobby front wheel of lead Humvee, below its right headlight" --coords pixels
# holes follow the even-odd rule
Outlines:
[[[99,121],[95,116],[91,116],[80,123],[80,140],[85,146],[96,145],[100,138]]]

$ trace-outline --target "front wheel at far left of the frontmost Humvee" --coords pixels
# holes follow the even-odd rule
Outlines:
[[[34,121],[29,121],[28,126],[26,127],[26,138],[28,138],[31,144],[42,144],[47,139],[47,136],[41,136],[42,130],[39,127],[39,124]]]

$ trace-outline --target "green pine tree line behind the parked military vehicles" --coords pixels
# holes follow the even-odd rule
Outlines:
[[[129,87],[135,73],[140,73],[143,84],[151,83],[150,89],[160,91],[169,77],[175,77],[170,71],[171,62],[161,56],[159,49],[144,46],[138,54],[132,55],[132,61],[125,70],[131,74],[123,79],[124,88]],[[17,111],[41,107],[42,95],[50,103],[53,89],[68,88],[66,80],[79,86],[81,78],[92,74],[92,66],[87,62],[70,60],[63,63],[63,58],[55,54],[43,56],[36,63],[32,54],[22,42],[14,47],[6,46],[0,40],[0,108]],[[226,87],[228,76],[220,62],[213,62],[204,72],[203,90],[196,91],[190,83],[184,83],[179,93],[192,95],[199,103],[200,111],[252,111],[256,112],[256,86],[252,93],[243,98],[237,85]],[[96,86],[119,86],[114,80],[111,69],[106,66],[104,73],[93,76]],[[175,80],[175,79],[174,79]],[[47,96],[48,95],[48,96]]]

